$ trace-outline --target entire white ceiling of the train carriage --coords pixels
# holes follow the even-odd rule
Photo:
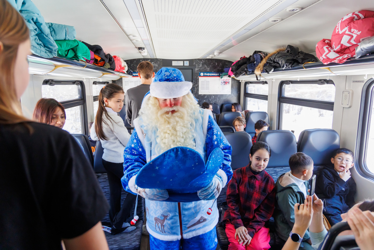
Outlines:
[[[155,54],[164,59],[206,58],[219,49],[222,54],[214,58],[235,61],[255,50],[271,52],[288,44],[314,52],[316,43],[330,38],[344,15],[362,9],[374,10],[373,0],[33,2],[46,22],[72,25],[78,40],[101,45],[106,53],[119,55],[124,60],[143,58],[137,47],[144,46],[152,50],[144,57]],[[135,6],[140,18],[145,18],[134,20],[135,12],[130,5]],[[289,13],[285,10],[289,6],[300,6],[303,10]],[[282,21],[276,24],[267,21],[271,17],[281,17]],[[142,32],[142,26],[146,31]],[[149,33],[145,34],[147,27]],[[136,37],[129,37],[131,34]]]

